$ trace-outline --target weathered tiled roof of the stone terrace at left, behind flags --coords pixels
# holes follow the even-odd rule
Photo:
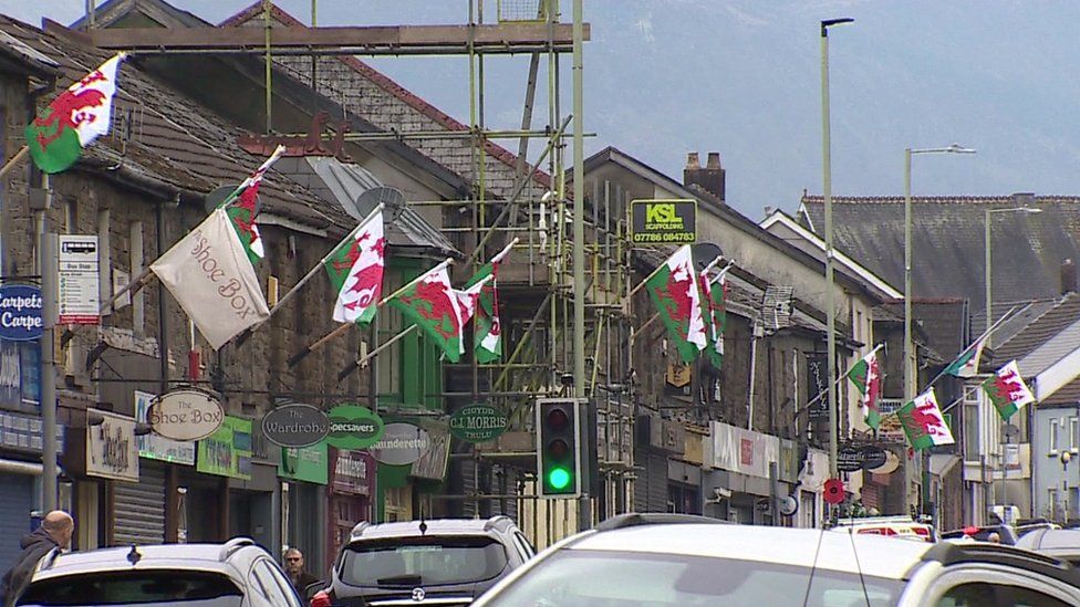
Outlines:
[[[75,32],[69,40],[8,18],[0,21],[0,32],[60,65],[58,92],[111,56],[80,44]],[[113,129],[86,148],[75,170],[89,169],[122,182],[149,185],[165,193],[175,191],[189,202],[201,203],[205,195],[224,185],[238,185],[262,163],[263,158],[248,154],[237,144],[237,137],[248,135],[247,132],[141,71],[136,59],[124,62],[117,82]],[[52,97],[44,95],[40,103],[46,104]],[[125,132],[131,133],[129,138]],[[264,213],[332,237],[344,236],[355,224],[334,199],[321,199],[276,169],[264,177],[259,198]],[[427,227],[424,236],[433,231]],[[418,233],[419,230],[386,224],[392,247],[432,247],[446,252],[447,242],[442,234],[417,239]]]

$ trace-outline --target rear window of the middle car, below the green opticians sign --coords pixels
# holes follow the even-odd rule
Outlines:
[[[506,566],[506,550],[494,538],[444,535],[353,543],[340,573],[350,586],[412,587],[484,582]]]

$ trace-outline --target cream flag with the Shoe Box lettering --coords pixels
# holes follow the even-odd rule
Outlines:
[[[214,349],[270,317],[259,278],[225,209],[215,209],[150,270]]]

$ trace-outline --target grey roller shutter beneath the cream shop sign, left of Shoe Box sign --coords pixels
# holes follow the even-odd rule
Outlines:
[[[165,464],[141,460],[137,483],[113,483],[113,544],[165,542]]]

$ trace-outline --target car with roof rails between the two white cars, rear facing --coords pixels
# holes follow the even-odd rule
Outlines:
[[[508,516],[360,523],[311,607],[468,605],[534,554]]]

